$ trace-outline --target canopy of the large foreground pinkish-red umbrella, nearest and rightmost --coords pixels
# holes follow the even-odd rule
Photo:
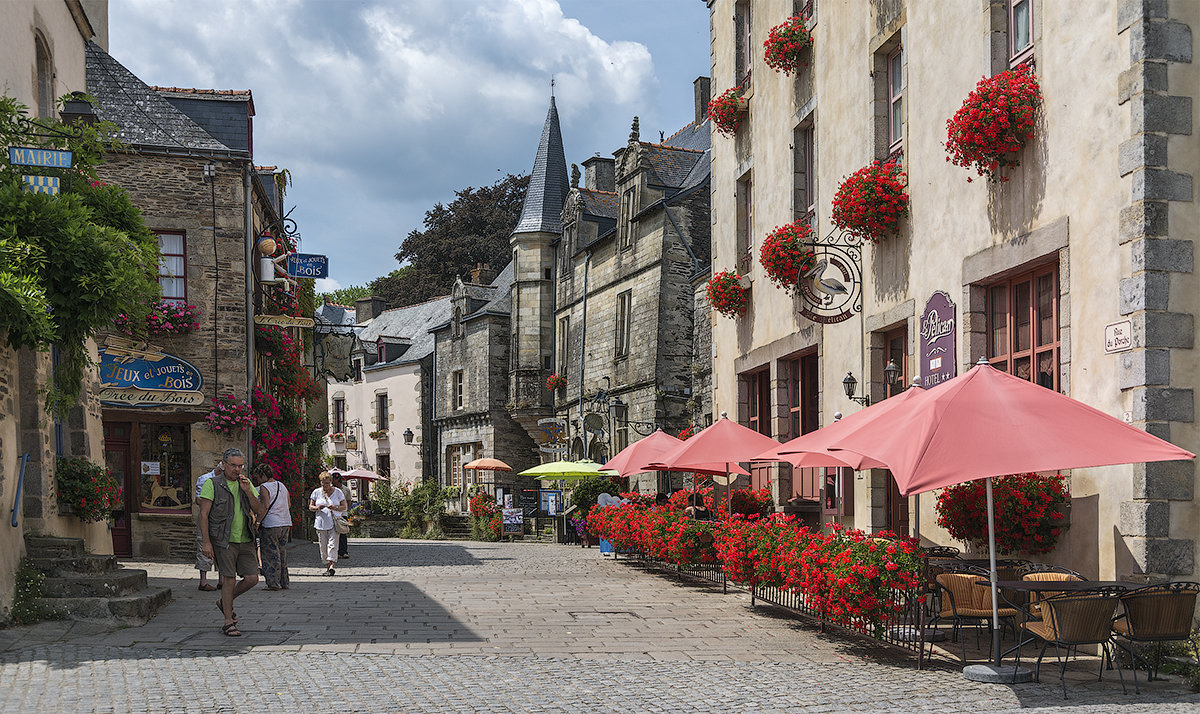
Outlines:
[[[830,445],[886,463],[904,496],[1004,474],[1195,457],[986,364],[898,406]]]

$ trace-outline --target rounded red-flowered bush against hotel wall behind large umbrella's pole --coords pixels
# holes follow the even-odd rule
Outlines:
[[[1058,544],[1063,506],[1070,500],[1062,475],[1016,474],[991,480],[1000,553],[1048,553]],[[988,493],[983,480],[944,488],[937,496],[937,524],[955,540],[988,545]]]

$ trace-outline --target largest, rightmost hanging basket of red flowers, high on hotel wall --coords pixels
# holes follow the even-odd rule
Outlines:
[[[1038,79],[1027,65],[984,77],[946,120],[946,161],[974,168],[990,181],[1008,181],[1001,172],[1021,164],[1040,103]]]

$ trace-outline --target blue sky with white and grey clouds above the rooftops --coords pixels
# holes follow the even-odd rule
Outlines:
[[[292,172],[302,248],[340,286],[398,266],[454,191],[528,173],[556,79],[568,163],[691,121],[702,0],[112,0],[148,84],[250,89],[254,161]],[[326,284],[324,287],[337,287]]]

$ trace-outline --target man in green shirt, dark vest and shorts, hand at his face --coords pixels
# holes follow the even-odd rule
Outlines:
[[[242,473],[246,457],[240,449],[226,449],[221,456],[221,474],[200,488],[200,552],[216,562],[221,574],[221,599],[217,608],[224,614],[221,631],[241,637],[233,601],[258,584],[258,552],[251,514],[263,516],[250,478]],[[241,582],[238,582],[241,576]]]

